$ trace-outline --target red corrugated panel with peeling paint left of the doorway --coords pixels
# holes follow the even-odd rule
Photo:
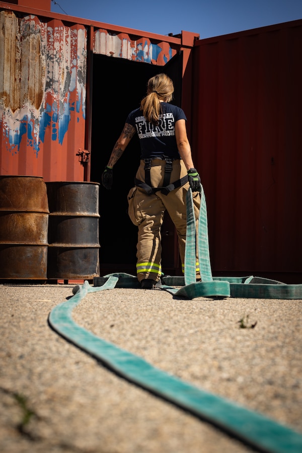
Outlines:
[[[0,28],[0,174],[83,181],[86,28],[13,11]]]

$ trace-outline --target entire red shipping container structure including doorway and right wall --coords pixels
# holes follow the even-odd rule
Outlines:
[[[50,9],[47,1],[40,8]],[[164,71],[188,117],[213,274],[302,281],[302,21],[199,40],[15,3],[0,2],[2,175],[100,183],[127,114],[148,78]],[[101,274],[135,273],[137,231],[126,194],[138,162],[134,137],[113,190],[100,186]],[[168,217],[163,268],[170,274],[180,272],[177,247]]]

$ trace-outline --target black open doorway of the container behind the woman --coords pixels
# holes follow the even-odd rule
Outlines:
[[[175,84],[173,102],[180,105],[180,60],[180,55],[176,55],[166,65],[167,67],[163,67],[105,55],[94,55],[91,181],[101,183],[102,172],[123,129],[127,115],[131,110],[139,107],[141,99],[146,94],[146,85],[150,77],[159,72],[168,73]],[[136,275],[137,227],[128,217],[127,194],[134,185],[139,161],[140,148],[138,137],[135,135],[114,167],[112,190],[106,190],[100,184],[101,275],[111,272],[127,272]],[[169,222],[169,219],[165,218],[165,222]],[[166,255],[171,256],[172,263],[174,229],[172,232],[171,225],[169,225],[169,231],[171,231],[171,237],[166,247],[169,249],[166,250]],[[169,234],[164,233],[165,236]],[[167,265],[171,267],[169,263]]]

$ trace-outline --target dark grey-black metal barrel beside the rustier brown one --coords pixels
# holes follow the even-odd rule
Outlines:
[[[99,264],[99,183],[46,182],[48,279],[93,279]]]

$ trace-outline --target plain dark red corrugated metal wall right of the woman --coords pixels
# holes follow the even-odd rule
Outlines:
[[[217,275],[302,278],[302,21],[197,41],[192,144]]]

